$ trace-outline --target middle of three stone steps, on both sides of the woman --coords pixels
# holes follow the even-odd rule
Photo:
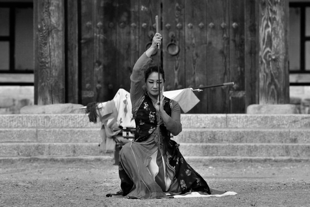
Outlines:
[[[1,142],[101,142],[100,128],[0,129]],[[177,143],[310,143],[309,129],[183,129]]]

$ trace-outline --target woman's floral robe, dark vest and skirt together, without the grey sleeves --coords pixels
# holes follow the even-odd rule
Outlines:
[[[171,108],[172,100],[165,97],[164,110],[168,115]],[[133,111],[133,117],[137,137],[134,142],[123,146],[120,152],[119,176],[122,196],[149,199],[166,197],[166,192],[211,194],[206,181],[188,165],[179,151],[178,144],[170,139],[170,132],[164,125],[157,125],[156,109],[147,93]],[[165,179],[154,180],[148,170],[150,155],[156,151],[163,158],[163,162],[160,163],[162,166],[159,168],[164,168],[166,177],[171,180],[170,187],[166,191],[165,187],[161,187],[164,184],[160,183]]]

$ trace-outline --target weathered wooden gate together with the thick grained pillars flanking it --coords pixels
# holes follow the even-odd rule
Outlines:
[[[200,103],[188,113],[288,103],[287,10],[284,0],[34,0],[35,103],[86,105],[129,90],[156,15],[166,90],[235,82],[195,92]]]

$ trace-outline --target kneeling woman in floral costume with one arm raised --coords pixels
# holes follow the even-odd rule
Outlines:
[[[210,190],[206,181],[187,164],[178,144],[170,139],[170,133],[177,135],[182,131],[182,124],[179,103],[163,96],[163,69],[159,69],[159,84],[158,66],[151,66],[145,70],[153,51],[157,49],[157,44],[161,44],[161,39],[161,34],[154,35],[152,45],[139,57],[130,77],[130,98],[136,137],[134,142],[124,145],[119,153],[121,194],[128,198],[140,199],[188,192],[211,194],[213,190]],[[146,93],[141,82],[143,79]],[[158,87],[161,91],[160,102]]]

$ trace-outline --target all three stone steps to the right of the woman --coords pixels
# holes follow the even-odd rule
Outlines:
[[[175,137],[188,159],[310,160],[310,115],[182,116]]]

